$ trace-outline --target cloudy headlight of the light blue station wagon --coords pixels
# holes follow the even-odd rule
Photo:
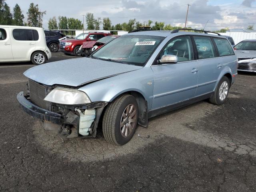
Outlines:
[[[79,105],[91,102],[84,92],[69,88],[55,88],[44,100],[66,105]]]

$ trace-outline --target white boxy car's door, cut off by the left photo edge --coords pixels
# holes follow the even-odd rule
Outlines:
[[[0,61],[12,61],[12,45],[8,28],[0,28]]]

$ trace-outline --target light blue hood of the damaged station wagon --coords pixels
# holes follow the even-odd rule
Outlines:
[[[24,75],[45,85],[80,86],[143,67],[92,58],[76,58],[32,67]]]

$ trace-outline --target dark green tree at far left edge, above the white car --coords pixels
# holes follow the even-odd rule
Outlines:
[[[5,0],[0,1],[0,25],[12,25],[12,14]]]

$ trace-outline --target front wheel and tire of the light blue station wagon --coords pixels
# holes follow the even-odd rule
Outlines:
[[[122,95],[110,103],[102,120],[104,138],[124,145],[132,138],[138,123],[138,104],[132,95]]]

